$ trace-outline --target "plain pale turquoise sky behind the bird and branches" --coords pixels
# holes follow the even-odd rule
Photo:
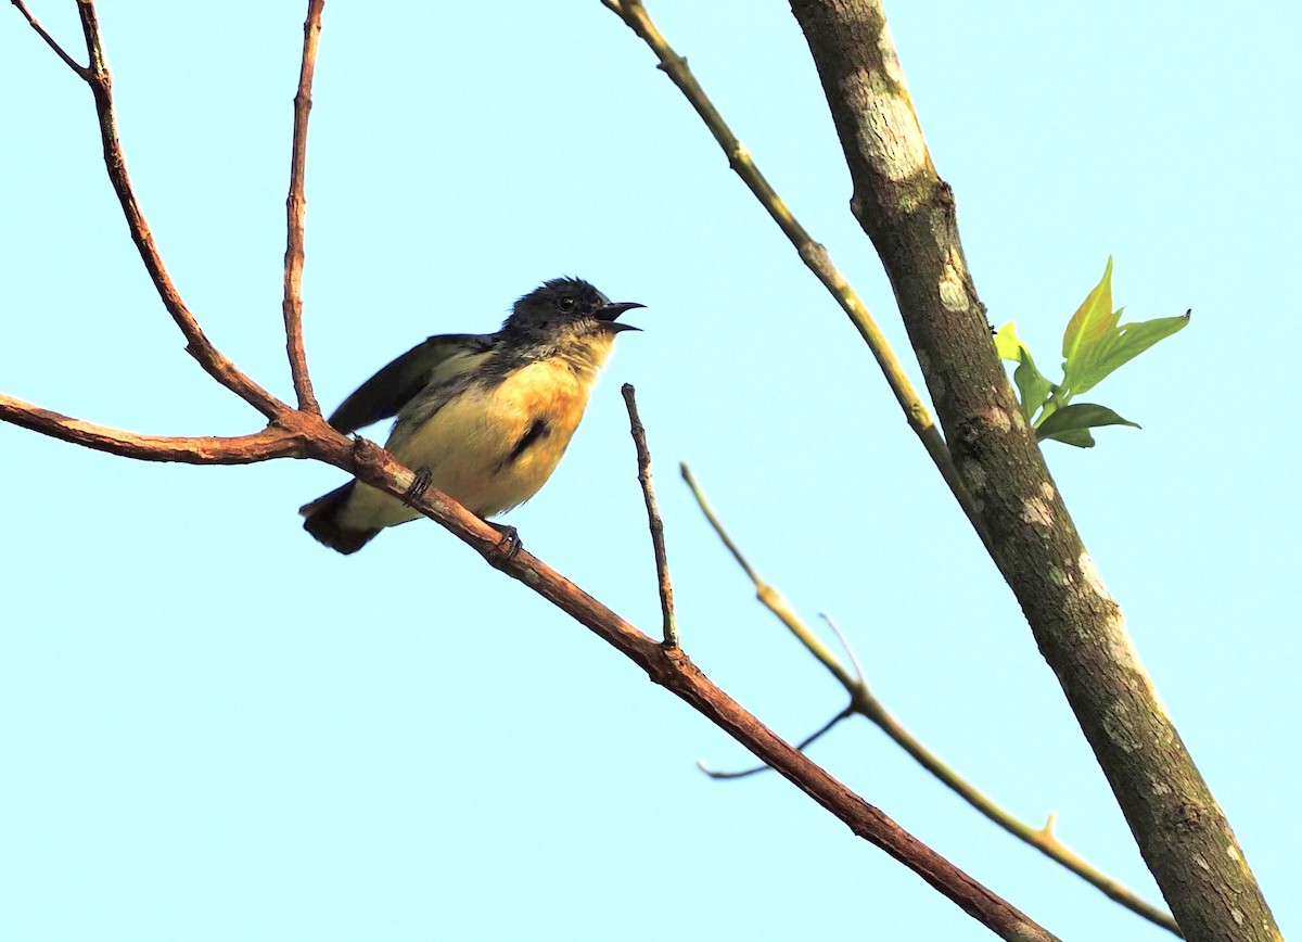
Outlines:
[[[290,395],[280,298],[302,3],[105,3],[132,177],[208,336]],[[76,5],[33,3],[79,57]],[[921,387],[783,4],[652,16]],[[1088,395],[1143,426],[1046,452],[1275,913],[1302,925],[1295,782],[1295,65],[1302,8],[888,5],[996,324],[1051,371],[1116,261],[1125,319],[1191,326]],[[832,614],[885,705],[1150,899],[1012,594],[867,349],[651,52],[598,0],[331,3],[307,177],[307,352],[336,405],[430,334],[562,274],[629,319],[552,482],[506,517],[648,632],[618,387],[638,388],[684,645],[789,739],[844,705],[753,598]],[[0,16],[0,390],[154,434],[259,416],[184,353],[104,176],[89,90]],[[1280,430],[1284,429],[1281,433]],[[372,430],[383,439],[383,427]],[[918,877],[432,524],[344,558],[309,463],[133,463],[0,426],[0,937],[984,939]],[[970,810],[866,721],[814,758],[1068,939],[1165,932]]]

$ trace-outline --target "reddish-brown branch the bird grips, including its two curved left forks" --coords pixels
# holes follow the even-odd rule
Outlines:
[[[298,444],[296,450],[286,451],[286,453],[312,457],[342,468],[358,479],[392,496],[405,499],[417,511],[436,520],[478,550],[493,565],[522,581],[624,653],[639,664],[652,681],[668,688],[729,732],[801,791],[844,821],[854,834],[885,849],[947,898],[999,933],[1000,937],[1036,941],[1055,938],[1005,900],[900,829],[891,818],[850,792],[806,756],[779,739],[734,700],[710,683],[681,649],[656,644],[531,554],[521,551],[513,558],[504,558],[499,550],[500,534],[497,530],[469,513],[447,495],[431,490],[418,498],[411,496],[413,473],[384,450],[365,439],[354,440],[340,435],[319,414],[290,409],[253,383],[212,348],[168,278],[132,192],[122,163],[121,145],[117,139],[109,74],[104,64],[92,0],[78,0],[78,10],[90,53],[87,82],[95,95],[105,164],[122,205],[132,237],[154,279],[159,296],[189,339],[191,354],[223,386],[273,420],[272,429],[266,433],[268,438],[273,438],[277,433],[294,436]],[[311,17],[309,17],[310,20]],[[309,42],[310,39],[305,39],[305,46]],[[229,456],[232,442],[247,444],[250,440],[260,438],[163,439],[132,436],[128,433],[90,426],[77,420],[27,407],[17,400],[8,400],[7,407],[10,408],[12,413],[7,413],[5,417],[12,414],[14,421],[21,421],[26,427],[87,447],[99,447],[105,451],[116,450],[118,453],[133,453],[137,457],[155,457],[159,450],[173,448],[176,456],[190,456],[201,463],[215,463]],[[195,444],[195,442],[201,444]],[[189,443],[189,447],[182,443]],[[199,452],[204,447],[215,448],[215,451],[201,456]]]

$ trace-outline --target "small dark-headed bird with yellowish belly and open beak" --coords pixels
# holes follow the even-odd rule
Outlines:
[[[415,469],[411,494],[431,485],[487,519],[529,500],[556,470],[583,418],[616,318],[646,305],[612,304],[587,281],[557,278],[519,298],[496,334],[434,336],[367,379],[329,417],[345,435],[397,416],[385,448]],[[385,526],[421,515],[361,481],[299,508],[303,529],[357,552]],[[513,526],[508,555],[519,549]]]

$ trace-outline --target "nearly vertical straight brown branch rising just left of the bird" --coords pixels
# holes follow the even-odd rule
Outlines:
[[[303,176],[307,168],[307,119],[312,111],[312,76],[316,72],[316,42],[322,33],[322,9],[326,0],[307,0],[307,20],[303,21],[303,60],[298,72],[298,94],[294,95],[294,145],[289,162],[289,197],[285,199],[288,231],[285,238],[285,349],[289,371],[294,379],[298,408],[320,414],[320,405],[312,393],[312,379],[307,373],[303,352],[303,214],[307,199],[303,195]]]

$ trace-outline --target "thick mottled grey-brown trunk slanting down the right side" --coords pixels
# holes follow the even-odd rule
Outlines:
[[[1208,942],[1280,938],[1022,420],[881,4],[792,9],[845,150],[852,208],[891,278],[954,466],[1181,930]]]

